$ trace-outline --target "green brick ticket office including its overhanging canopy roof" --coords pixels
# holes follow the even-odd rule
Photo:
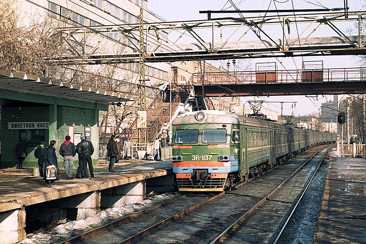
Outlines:
[[[0,168],[18,164],[16,146],[26,140],[28,155],[23,167],[38,167],[34,150],[41,141],[48,146],[56,140],[59,165],[63,158],[58,151],[65,136],[76,145],[80,135],[93,143],[93,164],[98,162],[99,111],[107,111],[113,102],[133,101],[125,94],[60,80],[42,79],[21,72],[0,71],[1,159]],[[74,164],[78,156],[74,157]]]

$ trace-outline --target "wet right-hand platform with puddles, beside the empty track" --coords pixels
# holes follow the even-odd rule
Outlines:
[[[366,243],[366,159],[330,162],[314,243]]]

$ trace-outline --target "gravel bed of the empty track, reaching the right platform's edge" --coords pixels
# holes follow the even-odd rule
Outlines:
[[[280,188],[275,195],[262,207],[260,207],[252,217],[247,219],[239,229],[236,230],[224,243],[273,243],[277,234],[280,232],[288,215],[299,199],[303,188],[309,182],[323,153],[316,155],[299,173],[290,179]],[[326,175],[326,166],[321,169],[322,176]],[[320,174],[316,174],[313,183],[321,179]],[[324,179],[322,186],[324,187]],[[311,243],[315,231],[317,216],[320,209],[320,200],[322,196],[321,182],[311,184],[302,202],[301,208],[296,210],[296,215],[291,218],[290,226],[287,226],[287,232],[281,237],[280,243]],[[317,196],[314,195],[317,193]],[[314,198],[311,198],[311,197]],[[310,198],[309,198],[310,197]],[[312,213],[317,209],[317,212]],[[291,237],[291,239],[289,239]],[[293,240],[293,241],[292,241]]]

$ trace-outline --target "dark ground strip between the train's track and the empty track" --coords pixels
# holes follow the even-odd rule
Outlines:
[[[185,215],[136,243],[209,243],[218,233],[221,233],[235,219],[294,172],[309,156],[309,154],[301,155],[279,168],[270,170],[260,178],[213,200],[202,206],[199,211]],[[305,166],[305,168],[309,167],[313,166]]]

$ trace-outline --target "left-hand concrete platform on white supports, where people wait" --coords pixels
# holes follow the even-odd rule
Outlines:
[[[25,239],[35,224],[42,227],[87,218],[101,208],[135,203],[150,192],[174,189],[171,161],[131,162],[115,167],[115,173],[103,170],[94,171],[94,180],[66,180],[60,174],[52,187],[45,186],[41,177],[0,174],[1,243]]]

